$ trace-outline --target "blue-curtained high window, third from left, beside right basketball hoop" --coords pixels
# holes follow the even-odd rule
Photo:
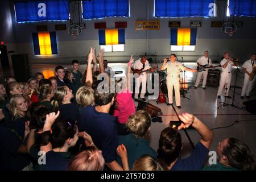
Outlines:
[[[155,0],[155,17],[209,17],[210,3],[214,0]]]

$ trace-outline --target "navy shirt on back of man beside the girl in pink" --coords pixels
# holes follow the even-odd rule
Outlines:
[[[102,151],[106,163],[116,159],[118,146],[117,126],[115,117],[100,113],[95,106],[82,109],[80,130],[85,130],[93,139],[94,144]]]

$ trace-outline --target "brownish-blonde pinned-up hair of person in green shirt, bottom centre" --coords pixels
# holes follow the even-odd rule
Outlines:
[[[138,110],[129,117],[126,126],[137,137],[145,137],[151,125],[151,116],[145,110]]]

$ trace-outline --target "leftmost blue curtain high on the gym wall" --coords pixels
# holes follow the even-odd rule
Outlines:
[[[69,5],[65,0],[15,1],[14,7],[17,22],[69,19]]]

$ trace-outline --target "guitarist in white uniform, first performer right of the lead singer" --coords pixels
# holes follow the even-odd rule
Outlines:
[[[199,57],[199,59],[196,61],[199,68],[201,68],[201,65],[207,65],[207,67],[212,66],[212,60],[209,59],[208,55],[209,55],[209,52],[204,51],[204,56]],[[209,68],[206,68],[204,71],[197,72],[195,89],[198,87],[201,77],[203,75],[203,86],[202,87],[205,90],[205,85],[207,84],[208,69]]]

